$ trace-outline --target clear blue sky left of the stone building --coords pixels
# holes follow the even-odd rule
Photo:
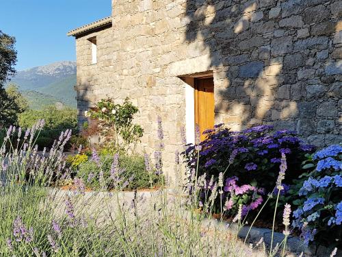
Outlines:
[[[111,0],[0,0],[0,29],[16,37],[17,71],[75,61],[66,32],[110,15]]]

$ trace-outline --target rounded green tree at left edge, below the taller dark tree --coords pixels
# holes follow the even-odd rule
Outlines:
[[[18,115],[29,108],[27,99],[21,95],[16,84],[0,88],[0,125],[17,125]]]

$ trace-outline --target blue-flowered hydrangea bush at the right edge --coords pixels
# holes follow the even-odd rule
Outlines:
[[[293,227],[302,230],[306,243],[342,248],[342,146],[331,145],[308,158],[299,191],[290,191],[294,205]],[[300,199],[298,199],[300,197]]]

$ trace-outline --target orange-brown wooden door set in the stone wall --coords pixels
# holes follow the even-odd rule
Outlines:
[[[214,96],[213,77],[195,79],[195,123],[200,127],[200,140],[204,140],[202,134],[214,125]]]

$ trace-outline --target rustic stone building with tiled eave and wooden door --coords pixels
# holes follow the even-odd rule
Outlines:
[[[342,1],[112,0],[111,16],[68,32],[79,124],[107,96],[140,108],[142,147],[165,133],[172,172],[181,127],[273,124],[315,145],[342,142]]]

